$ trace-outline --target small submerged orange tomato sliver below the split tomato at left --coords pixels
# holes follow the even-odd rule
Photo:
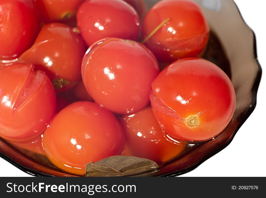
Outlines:
[[[25,149],[34,153],[45,155],[42,145],[43,133],[35,138],[26,141],[8,141],[13,147],[18,149]]]

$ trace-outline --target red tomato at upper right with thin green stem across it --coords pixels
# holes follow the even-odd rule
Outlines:
[[[145,43],[154,55],[161,61],[173,62],[200,54],[209,38],[209,26],[200,7],[190,0],[158,2],[144,18],[143,38],[167,18],[169,21]]]

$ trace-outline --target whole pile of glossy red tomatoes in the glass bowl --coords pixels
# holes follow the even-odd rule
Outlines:
[[[169,161],[235,109],[229,77],[196,58],[208,38],[190,0],[0,0],[0,137],[76,175],[112,155]]]

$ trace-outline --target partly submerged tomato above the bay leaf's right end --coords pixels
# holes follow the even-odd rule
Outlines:
[[[124,115],[120,122],[128,151],[136,157],[164,163],[177,157],[185,148],[185,145],[177,145],[164,138],[164,133],[150,108],[132,115]],[[127,155],[127,152],[124,155]]]

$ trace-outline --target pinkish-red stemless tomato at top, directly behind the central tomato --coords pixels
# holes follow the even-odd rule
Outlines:
[[[77,24],[90,46],[105,37],[136,40],[139,34],[137,12],[122,0],[89,0],[78,10]]]

